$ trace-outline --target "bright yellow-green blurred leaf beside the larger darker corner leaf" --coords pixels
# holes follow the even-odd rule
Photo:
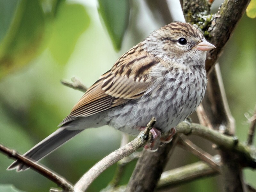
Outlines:
[[[81,4],[58,5],[49,49],[60,64],[67,63],[79,36],[89,26],[90,18]]]

